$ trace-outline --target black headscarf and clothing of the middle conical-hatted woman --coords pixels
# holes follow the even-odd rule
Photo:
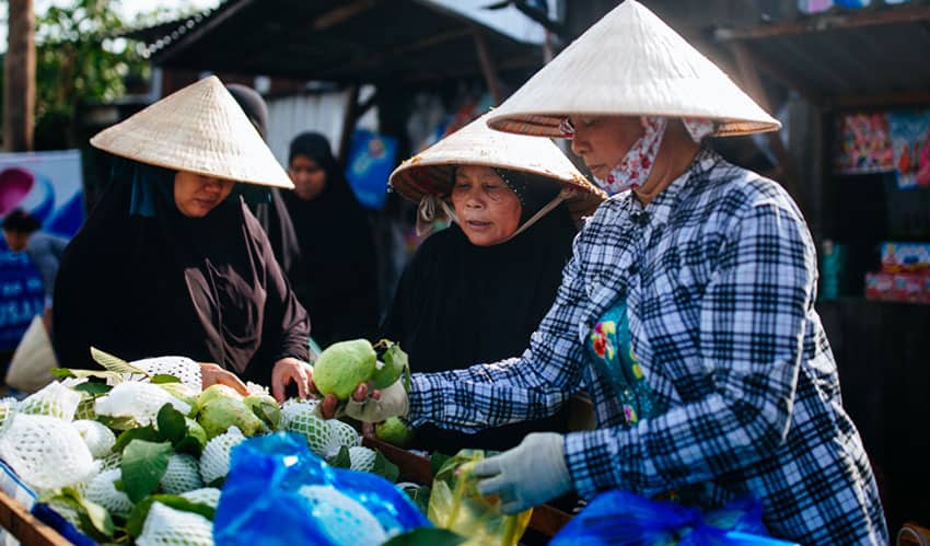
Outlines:
[[[507,178],[510,186],[518,177]],[[537,179],[522,190],[522,201],[531,205],[521,214],[528,218],[555,197],[558,187]],[[559,205],[497,245],[473,245],[456,224],[431,235],[400,278],[382,335],[399,341],[415,372],[457,370],[519,356],[555,300],[574,234],[568,210]],[[532,431],[563,431],[566,419],[560,411],[477,434],[427,425],[417,430],[415,442],[450,454],[464,448],[505,450]]]

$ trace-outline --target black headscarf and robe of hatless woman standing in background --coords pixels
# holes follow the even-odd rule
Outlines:
[[[300,242],[294,291],[313,318],[313,339],[370,337],[379,321],[376,262],[368,214],[356,199],[326,137],[304,132],[291,141],[290,163],[303,155],[326,173],[323,190],[305,201],[283,194]]]

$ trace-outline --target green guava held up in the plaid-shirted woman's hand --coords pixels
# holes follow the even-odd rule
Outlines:
[[[359,383],[368,382],[374,373],[376,358],[368,339],[333,344],[316,359],[313,382],[321,393],[346,400]]]

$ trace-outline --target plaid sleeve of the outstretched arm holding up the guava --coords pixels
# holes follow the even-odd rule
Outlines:
[[[466,370],[414,374],[408,420],[414,426],[476,431],[554,414],[582,381],[582,346],[577,338],[584,288],[574,256],[566,266],[553,307],[520,358]]]

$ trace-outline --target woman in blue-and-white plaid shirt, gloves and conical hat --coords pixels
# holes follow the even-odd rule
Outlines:
[[[598,429],[539,433],[475,472],[515,512],[569,489],[749,495],[769,532],[886,544],[862,441],[814,310],[816,256],[790,196],[702,147],[776,130],[723,72],[627,0],[500,108],[492,128],[572,138],[612,199],[574,243],[516,359],[416,375],[350,415],[476,429],[555,411],[582,385]]]

